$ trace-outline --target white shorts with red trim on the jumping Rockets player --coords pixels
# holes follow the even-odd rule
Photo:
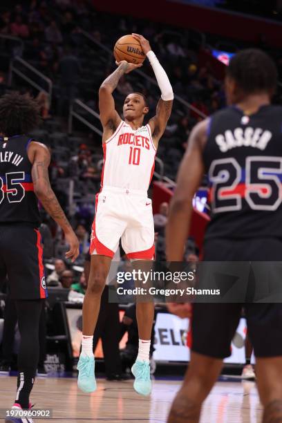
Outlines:
[[[121,238],[128,259],[153,259],[153,211],[147,192],[103,187],[95,209],[90,254],[113,258]]]

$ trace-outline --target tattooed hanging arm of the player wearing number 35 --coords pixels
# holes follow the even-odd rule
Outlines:
[[[79,242],[50,186],[48,176],[50,153],[44,144],[31,142],[28,149],[28,158],[32,163],[32,182],[35,195],[41,201],[46,212],[62,227],[66,241],[70,245],[70,250],[66,252],[66,258],[75,261],[79,255]]]

